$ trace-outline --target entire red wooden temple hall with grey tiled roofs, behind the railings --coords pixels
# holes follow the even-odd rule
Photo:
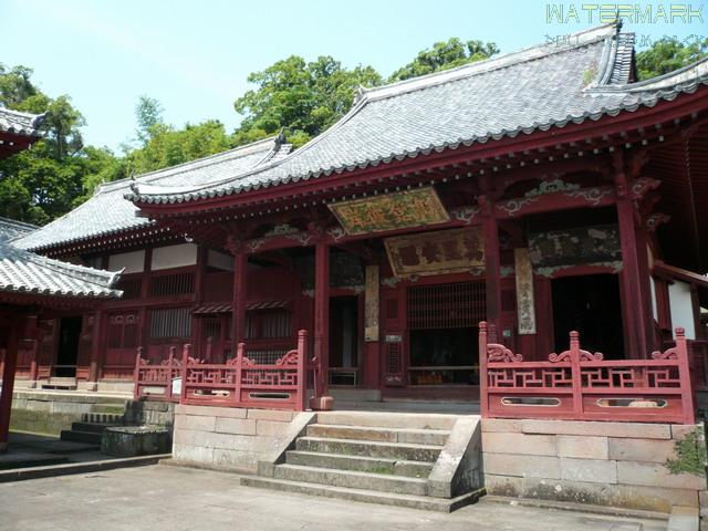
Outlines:
[[[705,340],[708,61],[636,82],[633,42],[603,25],[362,88],[292,153],[269,138],[103,185],[17,242],[125,269],[119,301],[46,322],[33,385],[129,389],[137,346],[269,363],[303,329],[322,393],[464,399],[482,320],[524,360],[571,330],[610,360],[676,326]]]

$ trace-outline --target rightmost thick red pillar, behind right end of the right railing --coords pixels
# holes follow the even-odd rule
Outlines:
[[[642,274],[639,257],[637,252],[637,237],[635,229],[635,208],[632,199],[620,197],[617,199],[617,223],[620,227],[620,243],[622,247],[622,313],[624,319],[626,357],[642,358],[649,354],[647,343],[648,321],[644,301],[642,282],[648,282],[648,278]],[[646,253],[646,249],[642,249]]]

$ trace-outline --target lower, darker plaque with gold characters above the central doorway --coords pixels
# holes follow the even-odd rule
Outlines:
[[[458,273],[485,266],[480,227],[398,236],[384,243],[396,277]]]

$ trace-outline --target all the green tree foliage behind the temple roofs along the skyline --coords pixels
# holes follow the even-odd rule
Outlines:
[[[449,39],[420,51],[386,82],[397,82],[488,59],[494,43]],[[639,79],[678,69],[708,53],[708,39],[685,44],[664,39],[637,54]],[[0,106],[46,113],[44,136],[31,149],[0,160],[0,216],[45,223],[86,200],[106,181],[186,163],[285,131],[295,147],[325,131],[352,106],[360,85],[376,86],[384,77],[372,66],[347,69],[324,55],[306,62],[291,55],[249,75],[253,88],[235,102],[239,127],[207,121],[181,128],[166,124],[160,103],[140,96],[134,139],[115,154],[86,146],[82,114],[67,95],[50,97],[32,82],[32,70],[0,63]]]

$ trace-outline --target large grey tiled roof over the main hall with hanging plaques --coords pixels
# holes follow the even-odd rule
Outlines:
[[[133,187],[128,199],[173,204],[296,183],[434,150],[564,127],[652,106],[708,83],[708,62],[665,87],[631,79],[634,35],[607,24],[520,52],[372,90],[319,137],[267,167],[218,184]],[[687,71],[688,72],[688,71]]]

